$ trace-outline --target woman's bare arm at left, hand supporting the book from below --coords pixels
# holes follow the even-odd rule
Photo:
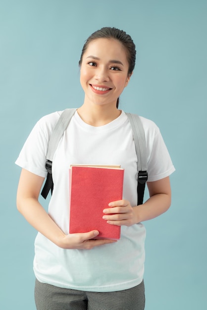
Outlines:
[[[38,201],[44,178],[22,169],[17,190],[17,209],[41,234],[63,249],[92,249],[114,240],[91,240],[99,232],[64,234]]]

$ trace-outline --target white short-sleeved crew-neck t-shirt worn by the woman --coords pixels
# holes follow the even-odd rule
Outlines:
[[[48,141],[61,112],[41,118],[16,164],[46,177]],[[154,122],[141,117],[147,144],[148,181],[169,176],[175,169]],[[65,130],[52,161],[54,190],[49,214],[67,234],[69,232],[70,164],[120,164],[124,168],[123,199],[137,205],[137,155],[126,114],[112,122],[94,127],[86,124],[77,111]],[[86,206],[87,207],[87,206]],[[38,233],[35,240],[34,272],[41,282],[85,291],[124,290],[141,283],[144,273],[146,237],[142,223],[121,226],[118,242],[92,250],[65,250]]]

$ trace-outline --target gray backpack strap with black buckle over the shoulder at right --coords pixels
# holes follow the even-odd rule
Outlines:
[[[143,204],[145,184],[148,179],[145,132],[139,115],[131,113],[126,113],[126,115],[132,127],[135,149],[137,153],[137,171],[138,171],[137,195],[138,195],[138,205],[141,205]]]

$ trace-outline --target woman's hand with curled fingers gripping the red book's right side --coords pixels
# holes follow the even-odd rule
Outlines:
[[[132,226],[137,223],[136,215],[129,201],[118,200],[108,204],[108,208],[103,210],[103,219],[111,225]]]

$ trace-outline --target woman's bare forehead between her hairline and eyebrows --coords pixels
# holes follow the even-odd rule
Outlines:
[[[84,53],[84,57],[93,55],[99,58],[122,59],[127,62],[127,55],[122,43],[116,39],[100,38],[91,41]]]

